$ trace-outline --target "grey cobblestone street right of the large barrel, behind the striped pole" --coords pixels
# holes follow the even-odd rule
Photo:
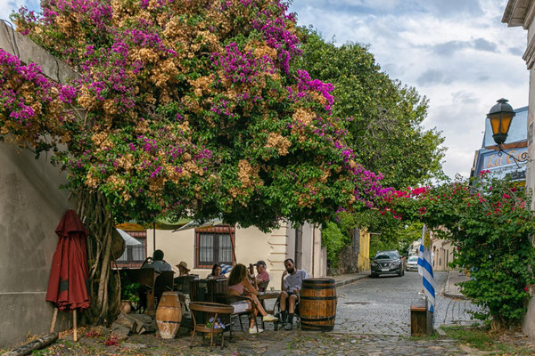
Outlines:
[[[446,279],[447,272],[435,272],[435,328],[451,323],[473,323],[468,313],[477,309],[473,303],[440,295]],[[418,295],[421,290],[422,277],[417,272],[406,272],[403,277],[363,279],[337,288],[335,331],[409,336],[410,306],[421,298]]]

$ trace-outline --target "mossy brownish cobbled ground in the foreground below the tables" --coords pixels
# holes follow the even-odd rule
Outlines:
[[[70,339],[71,340],[71,339]],[[259,336],[244,333],[235,335],[225,348],[215,347],[195,336],[193,349],[190,338],[179,336],[174,340],[162,340],[154,334],[130,336],[119,344],[106,344],[106,336],[82,336],[78,343],[68,339],[40,351],[39,356],[170,356],[170,355],[220,355],[220,356],[286,356],[286,355],[371,355],[371,356],[433,356],[468,355],[451,340],[418,340],[403,336],[350,335],[340,333],[314,333],[303,331],[267,331]]]

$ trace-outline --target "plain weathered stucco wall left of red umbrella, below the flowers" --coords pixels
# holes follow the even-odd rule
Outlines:
[[[53,307],[45,302],[57,243],[55,228],[73,206],[58,187],[62,175],[27,150],[0,142],[0,349],[27,334],[47,334]],[[68,315],[70,317],[70,315]],[[56,330],[69,328],[60,313]]]

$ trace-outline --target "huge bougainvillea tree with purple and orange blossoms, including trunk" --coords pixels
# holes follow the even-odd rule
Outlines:
[[[374,206],[387,191],[344,141],[333,85],[292,66],[295,20],[279,0],[41,7],[14,14],[17,29],[80,79],[59,85],[0,53],[0,138],[54,150],[100,231],[94,320],[109,309],[113,223],[218,216],[268,230]]]

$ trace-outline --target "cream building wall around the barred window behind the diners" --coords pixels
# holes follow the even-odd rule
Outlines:
[[[206,268],[194,268],[195,258],[195,231],[165,231],[156,230],[156,249],[164,253],[164,260],[172,266],[184,261],[190,273],[206,278],[211,270]],[[153,230],[147,230],[147,255],[154,251]],[[259,229],[251,227],[235,230],[235,254],[237,263],[249,266],[264,260],[267,264],[271,277],[269,287],[280,289],[280,281],[284,272],[284,260],[294,258],[295,252],[295,229],[290,224],[282,223],[279,229],[270,233],[263,233]],[[321,231],[313,228],[310,224],[302,227],[302,266],[310,277],[325,277],[326,275],[326,252],[321,247]],[[176,269],[176,271],[178,271]]]

